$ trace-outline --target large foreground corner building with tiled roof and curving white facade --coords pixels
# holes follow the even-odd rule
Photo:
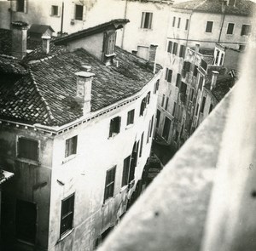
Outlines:
[[[161,70],[115,47],[127,22],[44,36],[30,54],[13,23],[0,57],[0,165],[15,174],[3,248],[92,250],[142,190]]]

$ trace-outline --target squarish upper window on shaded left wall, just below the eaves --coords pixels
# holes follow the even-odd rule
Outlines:
[[[20,137],[18,141],[18,157],[37,161],[38,141]]]

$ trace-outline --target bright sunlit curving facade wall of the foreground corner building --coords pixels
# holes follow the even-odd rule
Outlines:
[[[127,196],[131,197],[137,180],[142,178],[143,168],[150,153],[151,140],[148,124],[154,115],[157,95],[154,92],[156,78],[145,88],[142,96],[129,105],[84,123],[73,130],[55,137],[51,186],[51,208],[49,218],[49,250],[92,250],[93,243],[103,231],[113,226],[123,213]],[[151,91],[150,103],[140,117],[143,97]],[[127,112],[135,109],[134,124],[126,127]],[[108,138],[109,124],[113,117],[121,117],[120,133]],[[141,140],[144,132],[143,155],[138,158],[135,185],[127,194],[121,187],[123,162],[131,155],[135,141]],[[77,154],[65,159],[66,140],[78,135]],[[103,203],[106,172],[116,165],[113,197]],[[61,181],[64,185],[60,185]],[[60,240],[61,200],[75,193],[74,230]]]

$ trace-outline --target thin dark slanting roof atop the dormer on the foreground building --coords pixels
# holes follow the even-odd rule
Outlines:
[[[54,43],[55,43],[55,45],[66,44],[69,41],[73,41],[73,40],[81,38],[81,37],[87,37],[87,36],[99,33],[101,31],[105,31],[109,27],[113,27],[114,29],[119,29],[129,22],[130,22],[130,20],[127,20],[127,19],[110,20],[110,21],[100,24],[98,26],[93,26],[93,27],[84,29],[82,31],[74,32],[70,35],[67,35],[66,37],[57,37],[55,39]]]

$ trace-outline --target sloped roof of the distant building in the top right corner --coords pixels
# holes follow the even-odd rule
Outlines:
[[[222,14],[222,3],[223,1],[218,0],[192,0],[183,3],[176,3],[172,5],[175,9],[188,9],[193,12],[206,12]],[[253,14],[253,8],[255,3],[249,0],[236,0],[236,6],[226,6],[225,14],[235,15],[250,15]]]

